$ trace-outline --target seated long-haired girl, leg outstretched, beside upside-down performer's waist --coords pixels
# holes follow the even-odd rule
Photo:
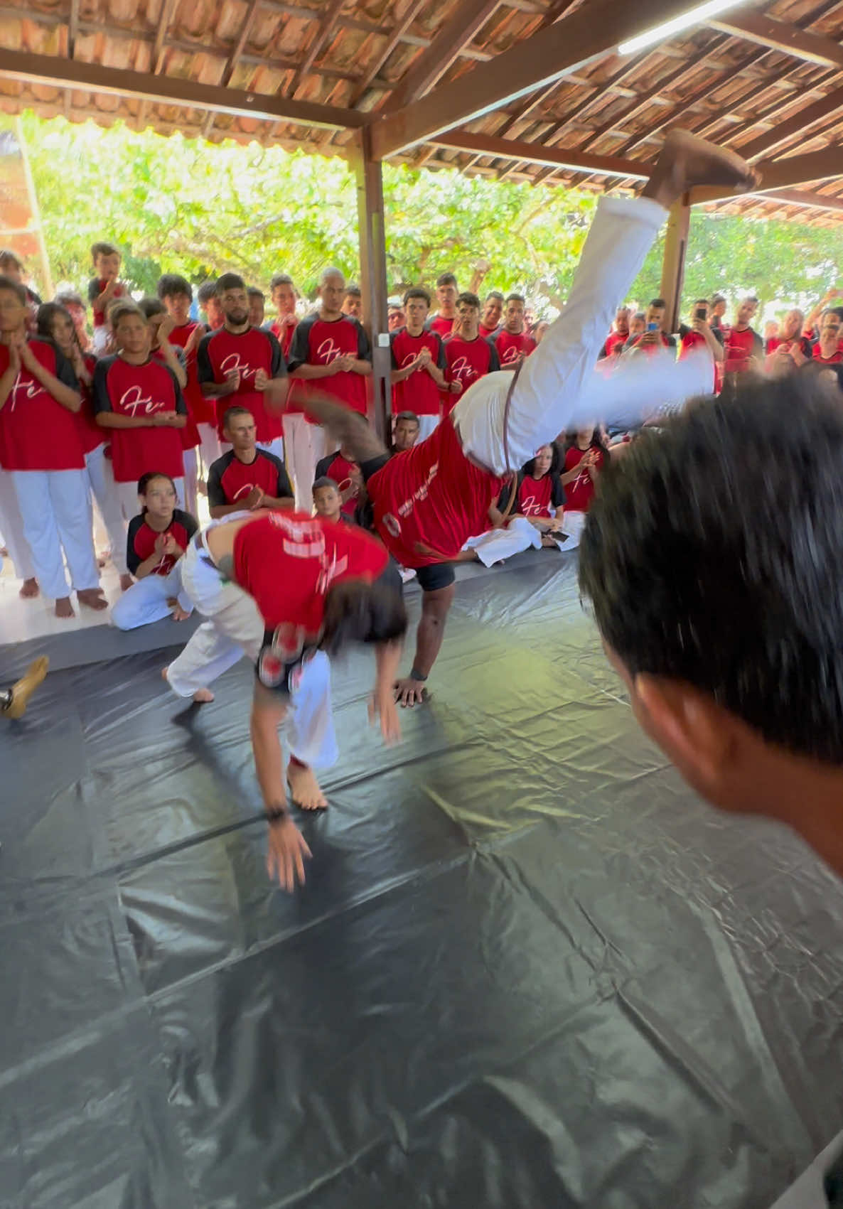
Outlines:
[[[468,557],[463,561],[473,559],[492,567],[521,550],[541,550],[542,546],[560,549],[565,491],[559,479],[559,449],[542,445],[536,457],[526,462],[518,474],[509,519],[507,513],[513,487],[507,485],[497,508],[490,509],[490,520],[496,527],[466,542],[463,550]],[[552,534],[559,534],[560,542]]]

